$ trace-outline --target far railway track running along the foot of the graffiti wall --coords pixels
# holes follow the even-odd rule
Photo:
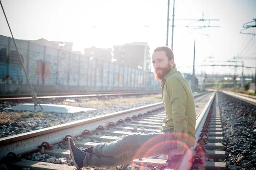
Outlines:
[[[38,99],[50,98],[76,98],[76,97],[100,97],[100,96],[125,96],[125,95],[139,95],[139,94],[160,94],[160,91],[125,91],[125,92],[99,92],[99,93],[77,93],[77,94],[38,94]],[[23,101],[32,99],[28,94],[20,95],[0,95],[1,101]]]

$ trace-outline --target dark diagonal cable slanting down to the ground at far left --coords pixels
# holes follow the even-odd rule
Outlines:
[[[12,30],[11,30],[11,27],[10,27],[9,22],[8,22],[8,20],[7,20],[7,17],[6,17],[5,11],[4,11],[4,9],[3,9],[3,4],[2,4],[2,2],[1,2],[1,0],[0,0],[0,4],[1,4],[2,10],[3,10],[3,14],[4,14],[5,18],[6,18],[6,22],[7,22],[7,24],[8,24],[9,30],[10,30],[10,32],[11,32],[11,34],[12,34]],[[18,47],[17,47],[16,41],[15,41],[15,39],[14,39],[14,37],[13,37],[13,34],[12,34],[12,40],[13,40],[13,42],[14,42],[14,44],[15,44],[15,48],[16,48],[16,50],[17,50],[17,53],[18,53],[18,55],[19,55],[19,57],[20,57],[20,63],[21,63],[21,65],[22,65],[22,67],[23,67],[23,70],[24,70],[24,72],[25,72],[27,81],[29,82],[29,77],[28,77],[28,74],[26,73],[26,69],[25,69],[24,64],[23,64],[23,61],[22,61],[22,59],[21,59],[20,51],[19,51],[19,49],[18,49]],[[39,105],[40,108],[43,110],[43,108],[41,107],[41,105],[40,105],[39,102],[38,102],[37,96],[36,96],[36,94],[35,94],[35,90],[34,90],[34,88],[32,87],[32,85],[30,84],[30,82],[29,82],[29,87],[30,87],[30,95],[31,95],[31,97],[32,97],[32,101],[34,102],[34,107],[37,106],[37,105]]]

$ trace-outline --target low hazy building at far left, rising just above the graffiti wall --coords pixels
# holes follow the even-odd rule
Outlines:
[[[70,52],[73,51],[73,42],[48,41],[44,38],[41,38],[38,40],[25,40],[25,41],[33,42],[35,44],[44,45],[51,48],[62,49],[65,51],[70,51]]]

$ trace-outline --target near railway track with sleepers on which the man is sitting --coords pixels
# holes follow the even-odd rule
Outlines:
[[[226,170],[226,164],[224,162],[216,161],[220,159],[223,161],[225,159],[224,145],[221,143],[223,141],[223,134],[221,117],[218,110],[218,94],[216,92],[203,93],[194,95],[194,98],[197,113],[195,132],[197,143],[195,147],[192,147],[183,156],[173,157],[170,166],[167,168],[189,170],[204,167],[206,170]],[[67,135],[70,135],[78,139],[76,140],[78,147],[85,148],[95,146],[99,143],[118,140],[122,135],[155,132],[158,131],[162,125],[165,114],[163,103],[160,102],[2,138],[0,139],[0,158],[7,156],[9,152],[23,155],[43,150],[44,152],[42,154],[44,154],[44,156],[48,154],[49,156],[68,158],[70,154],[68,149],[56,149],[56,147],[51,144],[62,143],[63,145],[67,145]],[[82,138],[86,140],[79,141],[79,139]],[[44,142],[48,142],[49,144]],[[39,149],[38,146],[40,146],[41,149]],[[5,158],[6,161],[8,159],[13,161],[15,158],[12,155],[14,154],[10,154],[9,157]],[[205,157],[209,158],[209,161],[204,161]],[[135,159],[133,163],[142,164],[143,166],[154,165],[162,167],[167,166],[168,162],[166,161],[166,158],[145,158]],[[76,169],[73,166],[29,161],[25,159],[11,162],[9,167],[13,169],[29,167],[38,170]]]

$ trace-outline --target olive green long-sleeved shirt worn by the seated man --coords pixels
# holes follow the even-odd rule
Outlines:
[[[191,147],[195,145],[195,101],[189,82],[172,68],[162,79],[162,99],[166,109],[166,118],[163,120],[161,131],[172,128],[177,138],[177,149],[185,150],[182,143]],[[183,136],[181,133],[183,132]],[[185,146],[185,145],[184,145]]]

